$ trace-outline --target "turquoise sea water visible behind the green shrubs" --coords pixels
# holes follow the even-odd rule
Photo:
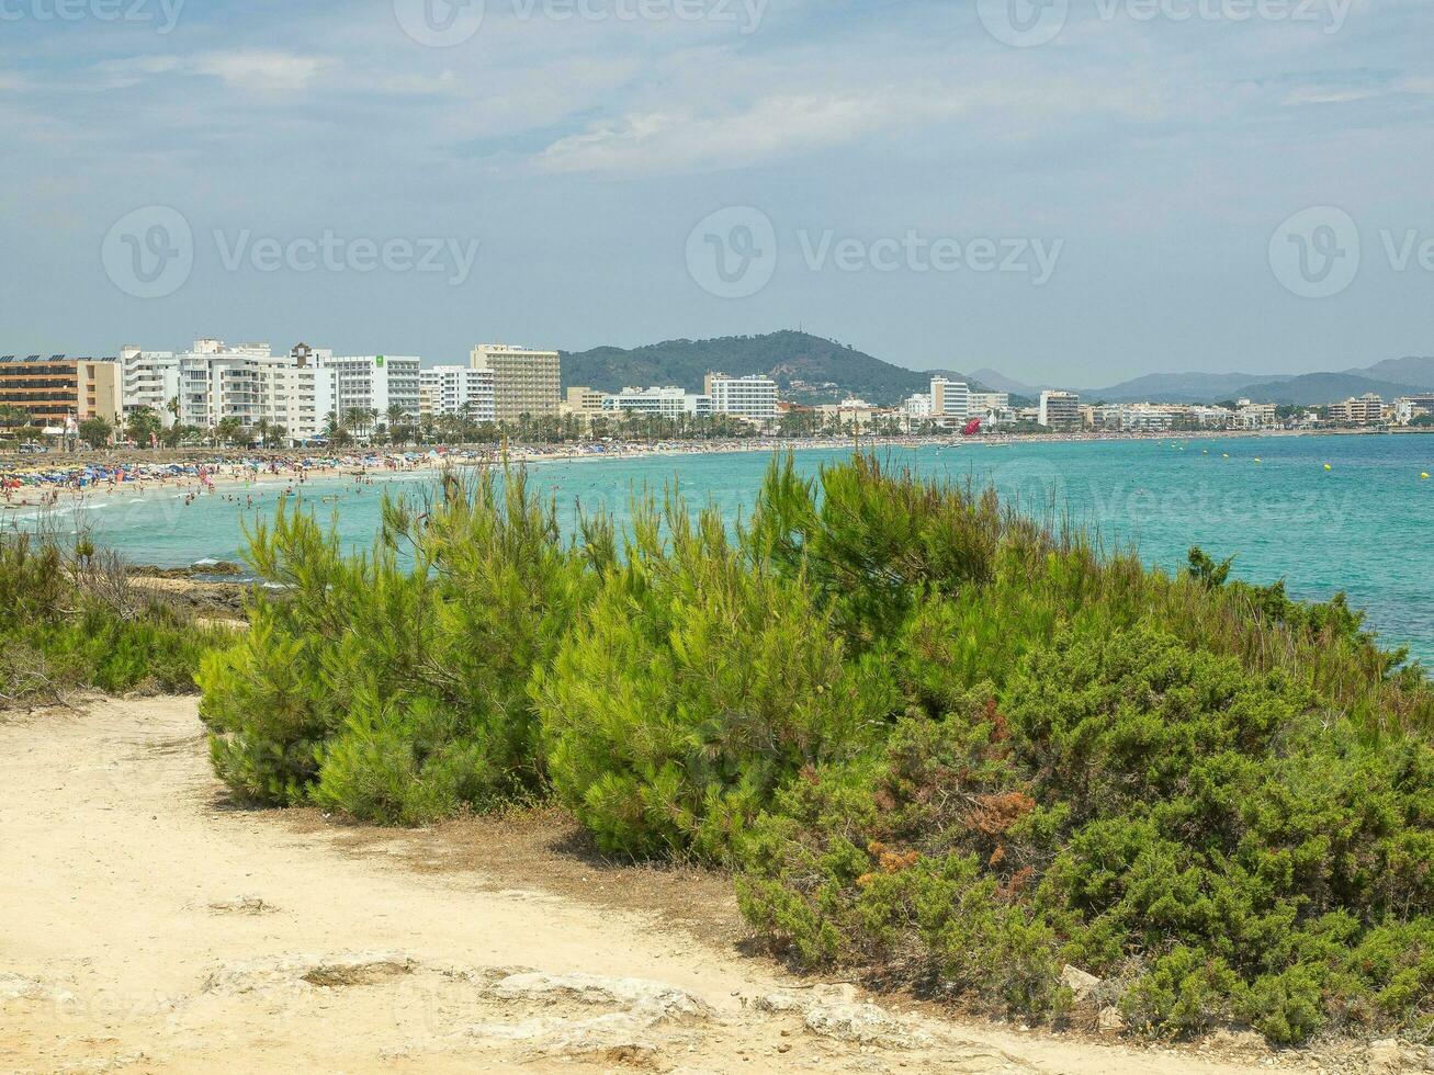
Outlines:
[[[815,474],[849,450],[797,453]],[[1192,545],[1236,556],[1242,578],[1288,579],[1291,593],[1324,599],[1347,591],[1368,611],[1387,645],[1408,645],[1434,664],[1434,436],[1232,437],[882,449],[922,474],[994,483],[1037,512],[1051,506],[1098,526],[1107,543],[1134,545],[1167,570]],[[1256,462],[1259,459],[1260,462]],[[619,519],[630,492],[677,480],[694,503],[728,517],[750,509],[770,454],[764,452],[579,460],[531,467],[558,497],[565,525],[575,505],[605,505]],[[1329,467],[1328,470],[1325,467]],[[367,545],[384,489],[417,492],[432,474],[310,482],[303,503],[336,517],[344,542]],[[174,492],[96,499],[83,510],[98,538],[132,562],[184,566],[242,556],[242,522],[272,510],[282,483],[225,487],[191,506]],[[245,506],[254,496],[255,509]]]

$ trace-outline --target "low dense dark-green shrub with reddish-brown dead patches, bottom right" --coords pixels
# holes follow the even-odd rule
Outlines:
[[[984,692],[757,823],[740,893],[769,940],[1022,1016],[1070,962],[1160,1033],[1301,1041],[1428,1003],[1425,741],[1325,727],[1282,672],[1147,625],[1064,632]],[[1425,943],[1391,962],[1391,930]]]

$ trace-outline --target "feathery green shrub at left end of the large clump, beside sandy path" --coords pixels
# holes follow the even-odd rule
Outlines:
[[[386,502],[367,555],[281,507],[250,556],[278,589],[202,677],[237,794],[413,824],[542,787],[528,681],[597,578],[521,472]]]

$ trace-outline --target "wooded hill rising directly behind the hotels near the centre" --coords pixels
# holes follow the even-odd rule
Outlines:
[[[928,391],[938,374],[965,380],[954,371],[903,370],[855,347],[793,331],[668,340],[631,350],[595,347],[562,355],[564,387],[599,391],[668,384],[700,391],[711,371],[733,377],[764,374],[777,381],[783,398],[797,403],[835,403],[855,394],[878,406],[895,406],[913,393]]]

